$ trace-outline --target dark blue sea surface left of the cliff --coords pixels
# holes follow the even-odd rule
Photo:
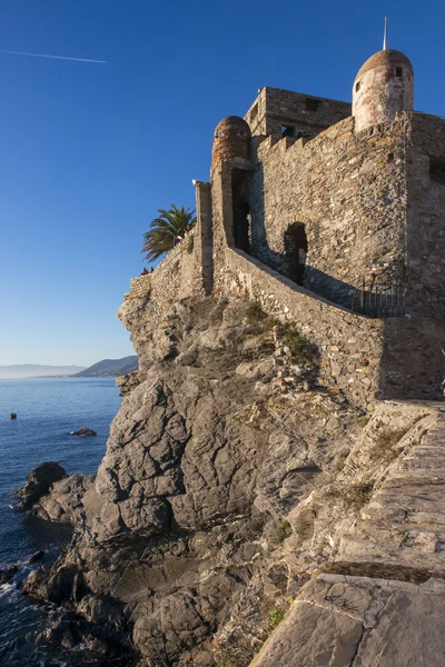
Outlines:
[[[36,378],[0,380],[0,568],[19,563],[10,584],[0,586],[0,666],[72,667],[99,665],[85,651],[36,647],[37,633],[58,610],[39,605],[17,588],[44,549],[53,560],[70,540],[70,529],[16,511],[12,491],[43,461],[58,461],[69,475],[93,474],[105,454],[110,422],[120,407],[112,378]],[[16,420],[10,412],[17,412]],[[68,432],[83,426],[97,437]]]

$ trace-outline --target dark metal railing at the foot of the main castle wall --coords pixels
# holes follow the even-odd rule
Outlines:
[[[369,317],[405,317],[406,288],[363,279],[353,295],[352,310]]]

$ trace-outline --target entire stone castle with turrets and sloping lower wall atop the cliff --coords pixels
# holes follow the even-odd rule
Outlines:
[[[360,407],[434,399],[444,374],[445,120],[414,111],[386,48],[353,103],[263,88],[214,137],[197,225],[135,278],[155,319],[196,292],[249,296],[318,346],[319,380]]]

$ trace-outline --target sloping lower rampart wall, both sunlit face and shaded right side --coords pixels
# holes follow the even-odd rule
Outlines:
[[[318,347],[320,382],[340,389],[356,406],[369,410],[377,398],[441,397],[439,329],[431,319],[353,313],[230,248],[218,288],[226,295],[247,295],[266,312],[295,322]]]

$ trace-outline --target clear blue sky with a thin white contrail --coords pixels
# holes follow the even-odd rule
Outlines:
[[[445,116],[445,3],[3,0],[0,365],[132,354],[116,311],[158,208],[194,206],[212,131],[273,86],[350,99],[360,64],[403,50],[417,110]]]

